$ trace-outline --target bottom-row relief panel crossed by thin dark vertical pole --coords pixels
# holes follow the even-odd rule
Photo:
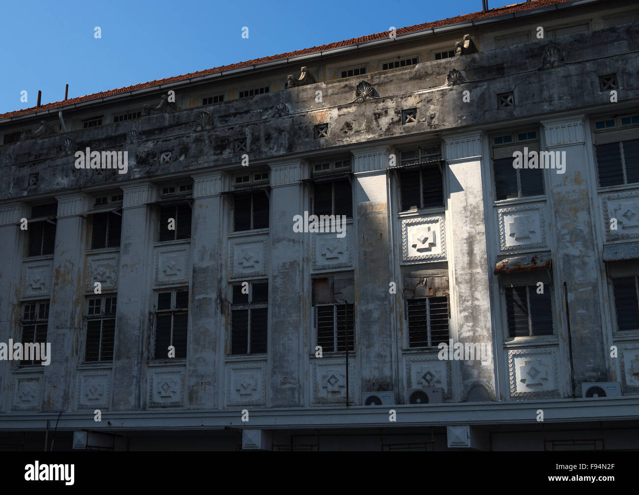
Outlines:
[[[311,403],[343,404],[346,402],[346,358],[319,359],[311,361],[312,397]],[[355,402],[355,356],[348,358],[348,397],[350,404]]]

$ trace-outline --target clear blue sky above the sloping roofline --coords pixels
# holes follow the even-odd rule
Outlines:
[[[491,8],[513,3],[489,0]],[[35,106],[38,89],[42,103],[56,102],[67,83],[75,98],[481,8],[481,0],[5,0],[0,113]]]

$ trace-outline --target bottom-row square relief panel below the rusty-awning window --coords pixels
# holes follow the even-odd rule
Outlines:
[[[559,396],[556,349],[510,349],[508,373],[511,397]]]

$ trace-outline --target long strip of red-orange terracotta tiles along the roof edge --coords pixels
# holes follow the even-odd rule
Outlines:
[[[570,0],[534,0],[531,2],[524,2],[518,4],[512,4],[505,7],[498,7],[488,10],[488,12],[473,12],[465,15],[458,15],[456,17],[449,17],[448,19],[436,20],[434,22],[424,22],[423,24],[415,24],[414,26],[401,27],[397,29],[397,34],[413,33],[422,29],[431,29],[433,27],[448,26],[450,24],[457,24],[459,22],[467,22],[469,20],[484,19],[486,17],[494,17],[496,15],[509,14],[515,12],[521,12],[525,10],[531,10],[538,7],[544,7],[548,5],[554,5],[559,3],[565,3]],[[260,57],[257,59],[247,60],[245,62],[239,62],[231,65],[223,65],[221,67],[214,67],[212,69],[200,70],[197,72],[190,72],[188,74],[176,75],[174,77],[167,77],[165,79],[156,79],[149,82],[142,82],[141,84],[134,84],[133,86],[127,86],[126,88],[111,89],[110,91],[102,91],[101,93],[93,93],[93,95],[78,96],[77,98],[69,98],[61,102],[46,103],[40,105],[40,107],[31,107],[28,109],[15,110],[13,112],[6,112],[0,114],[0,120],[8,119],[12,117],[31,114],[34,112],[42,112],[43,110],[52,110],[58,107],[66,107],[67,105],[74,105],[76,103],[89,102],[91,100],[99,100],[107,96],[119,95],[122,93],[128,93],[129,91],[135,91],[137,89],[153,88],[160,86],[160,84],[169,84],[171,82],[179,82],[181,80],[189,79],[190,77],[198,77],[202,75],[209,75],[215,72],[222,72],[232,70],[241,67],[247,67],[254,64],[271,62],[276,60],[286,59],[288,57],[296,57],[300,55],[306,55],[311,53],[321,52],[323,50],[330,50],[340,47],[348,47],[351,45],[357,45],[357,43],[369,42],[374,40],[381,40],[389,35],[388,31],[381,33],[369,34],[367,36],[359,36],[358,38],[351,38],[350,40],[343,40],[341,42],[328,43],[326,45],[320,45],[318,47],[305,48],[302,50],[295,50],[293,52],[286,52],[277,55],[271,55],[268,57]]]

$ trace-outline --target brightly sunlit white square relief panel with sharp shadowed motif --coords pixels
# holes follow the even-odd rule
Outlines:
[[[443,216],[405,218],[401,221],[402,261],[446,259]]]

